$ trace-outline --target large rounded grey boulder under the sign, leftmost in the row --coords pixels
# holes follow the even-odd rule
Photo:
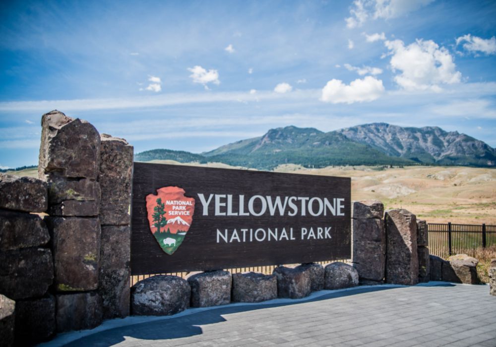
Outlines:
[[[131,288],[131,313],[140,316],[167,316],[189,307],[191,288],[178,276],[157,275]]]

